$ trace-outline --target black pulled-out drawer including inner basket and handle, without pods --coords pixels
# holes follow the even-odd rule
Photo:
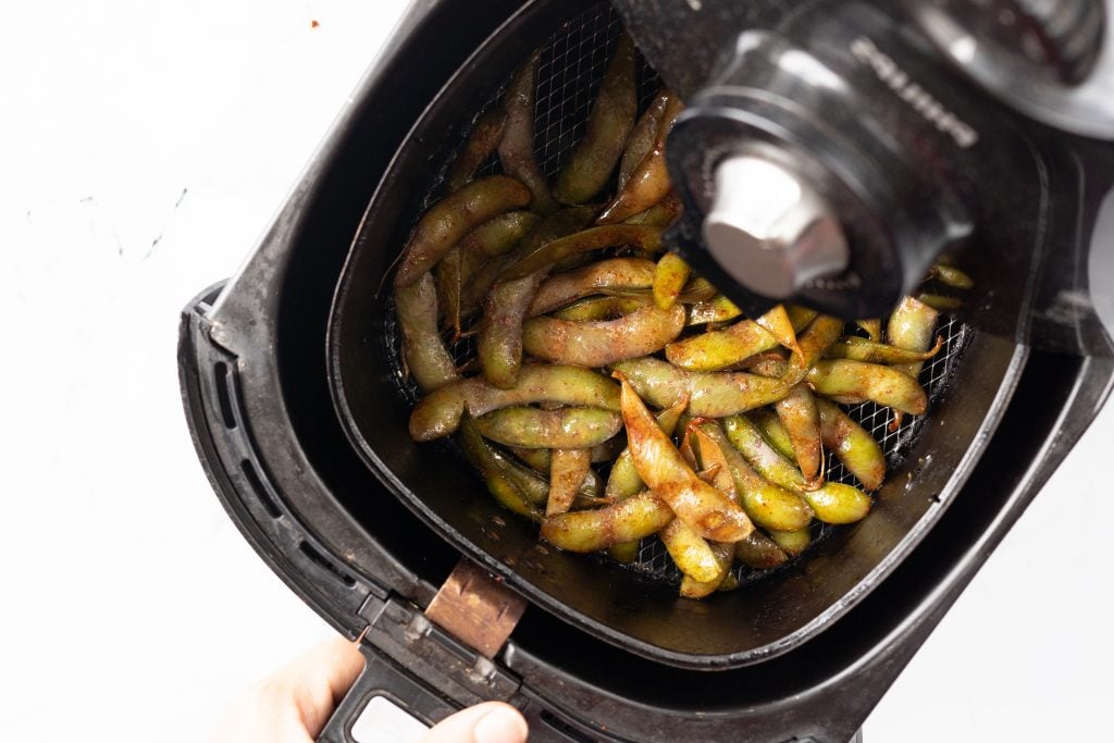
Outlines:
[[[375,695],[427,722],[507,700],[539,741],[848,740],[1089,423],[1114,365],[947,317],[926,417],[888,432],[887,410],[852,411],[890,466],[870,515],[704,602],[677,598],[654,540],[633,566],[540,545],[450,446],[409,438],[416,392],[380,286],[468,127],[537,47],[537,155],[556,173],[620,23],[606,2],[462,4],[410,11],[241,273],[183,315],[183,397],[214,488],[291,588],[362,637],[368,668],[322,740],[351,740]],[[643,102],[656,86],[645,68]],[[423,615],[461,556],[528,604],[491,659]]]

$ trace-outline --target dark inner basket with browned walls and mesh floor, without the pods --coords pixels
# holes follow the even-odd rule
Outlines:
[[[554,176],[583,136],[594,92],[620,32],[606,2],[528,4],[479,49],[416,124],[372,197],[349,255],[330,321],[330,374],[345,427],[364,459],[440,534],[547,609],[652,658],[730,667],[785,652],[833,620],[900,560],[961,483],[974,442],[996,423],[1012,343],[941,320],[941,352],[926,364],[925,417],[897,431],[873,403],[851,409],[887,456],[871,514],[851,527],[815,527],[813,546],[773,571],[739,568],[743,584],[702,602],[676,595],[680,573],[656,538],[629,566],[539,542],[536,526],[500,509],[451,443],[416,444],[407,418],[418,393],[400,361],[383,276],[414,222],[440,195],[453,148],[476,116],[538,46],[536,153]],[[556,29],[556,30],[554,30]],[[547,40],[548,39],[548,40]],[[643,106],[659,81],[639,78]],[[495,158],[482,169],[498,172]],[[387,282],[389,284],[389,282]],[[455,349],[458,355],[466,344]],[[977,372],[975,372],[977,370]],[[975,373],[968,373],[975,372]],[[852,482],[833,461],[829,478]]]

